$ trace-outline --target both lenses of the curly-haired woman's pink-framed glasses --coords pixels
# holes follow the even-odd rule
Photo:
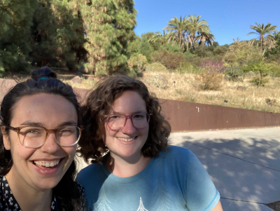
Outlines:
[[[125,115],[123,114],[112,114],[109,116],[108,125],[112,130],[118,130],[125,126]],[[135,128],[145,128],[148,125],[150,116],[148,114],[133,114],[131,116],[132,124]]]

